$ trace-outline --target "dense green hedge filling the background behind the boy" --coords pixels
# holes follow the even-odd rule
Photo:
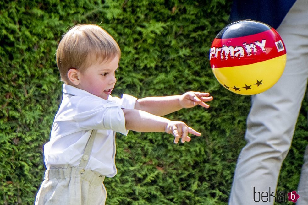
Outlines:
[[[42,147],[61,101],[55,62],[74,24],[100,24],[122,50],[114,95],[138,98],[209,91],[211,108],[168,115],[202,133],[173,144],[163,133],[117,135],[118,175],[105,180],[107,204],[227,204],[250,98],[214,78],[208,51],[228,24],[227,0],[0,2],[0,205],[33,204],[43,180]],[[303,103],[278,189],[295,190],[307,144]]]

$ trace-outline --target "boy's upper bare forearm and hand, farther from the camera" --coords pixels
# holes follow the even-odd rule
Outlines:
[[[209,93],[190,91],[182,95],[164,97],[146,97],[136,101],[135,109],[149,112],[157,116],[164,116],[182,108],[191,108],[200,105],[209,108],[205,102],[213,100]]]

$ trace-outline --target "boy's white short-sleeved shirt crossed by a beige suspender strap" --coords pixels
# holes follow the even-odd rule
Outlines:
[[[47,169],[78,166],[91,130],[97,129],[87,168],[104,176],[117,174],[115,132],[128,134],[122,108],[134,109],[137,98],[109,95],[108,100],[63,84],[63,99],[55,116],[50,141],[44,145]]]

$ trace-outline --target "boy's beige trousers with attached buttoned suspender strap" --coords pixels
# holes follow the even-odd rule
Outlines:
[[[103,181],[105,176],[86,169],[96,130],[93,130],[80,165],[66,169],[46,170],[35,205],[102,205],[107,192]]]

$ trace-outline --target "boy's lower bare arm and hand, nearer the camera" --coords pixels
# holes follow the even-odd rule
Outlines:
[[[171,121],[167,118],[135,109],[123,109],[123,112],[125,116],[125,127],[128,130],[137,132],[167,132],[175,137],[174,143],[176,144],[180,138],[182,138],[182,143],[185,141],[189,142],[189,133],[197,136],[201,135],[200,132],[188,127],[184,122]]]

